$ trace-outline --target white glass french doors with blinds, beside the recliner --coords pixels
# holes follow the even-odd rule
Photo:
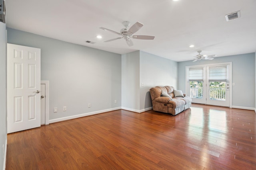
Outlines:
[[[232,63],[186,67],[186,94],[192,103],[231,106]]]

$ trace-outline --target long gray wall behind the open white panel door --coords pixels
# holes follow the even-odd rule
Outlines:
[[[121,55],[11,28],[7,33],[8,43],[41,49],[41,80],[50,81],[50,120],[121,107]]]

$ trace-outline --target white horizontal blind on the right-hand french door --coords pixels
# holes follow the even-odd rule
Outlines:
[[[227,81],[227,66],[209,67],[209,81]]]

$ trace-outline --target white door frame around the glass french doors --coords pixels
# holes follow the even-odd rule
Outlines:
[[[228,64],[229,65],[229,72],[228,72],[228,76],[229,76],[229,108],[232,108],[232,62],[226,62],[226,63],[214,63],[214,64],[200,64],[200,65],[191,65],[191,66],[186,66],[186,94],[190,94],[190,90],[189,90],[189,80],[188,80],[188,69],[189,68],[195,68],[195,67],[204,67],[206,68],[207,66],[218,66],[218,65],[225,65]],[[206,74],[205,72],[206,70],[204,69],[204,74]],[[208,79],[208,78],[207,78]],[[206,75],[204,75],[204,80],[206,81]],[[208,80],[207,80],[208,81]],[[206,87],[207,88],[207,87]]]

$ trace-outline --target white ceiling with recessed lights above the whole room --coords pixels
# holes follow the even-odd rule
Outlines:
[[[226,14],[239,10],[241,18],[226,21]],[[119,36],[99,27],[119,32],[122,21],[143,23],[134,35],[155,39],[132,39],[132,47],[124,39],[104,43]],[[141,50],[173,61],[192,60],[198,50],[217,57],[256,51],[256,0],[6,0],[6,24],[113,53]]]

